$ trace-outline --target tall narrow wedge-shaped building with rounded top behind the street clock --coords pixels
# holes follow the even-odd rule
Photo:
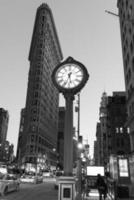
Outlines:
[[[21,148],[18,145],[21,164],[36,165],[39,158],[44,158],[47,167],[56,165],[54,149],[57,145],[59,93],[51,81],[51,74],[61,59],[53,15],[44,3],[37,9],[29,52]]]

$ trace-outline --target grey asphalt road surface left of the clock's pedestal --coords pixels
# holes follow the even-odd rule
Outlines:
[[[0,200],[58,200],[58,190],[54,189],[54,182],[40,184],[20,184],[20,190],[0,196]]]

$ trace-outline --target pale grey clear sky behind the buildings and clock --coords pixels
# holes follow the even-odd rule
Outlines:
[[[90,75],[80,94],[80,134],[88,140],[92,155],[102,93],[111,96],[125,90],[119,19],[105,12],[117,14],[117,0],[0,0],[0,107],[9,112],[7,139],[16,152],[28,54],[42,3],[52,10],[63,58],[80,61]]]

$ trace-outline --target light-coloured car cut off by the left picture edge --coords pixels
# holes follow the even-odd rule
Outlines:
[[[18,191],[20,182],[17,177],[11,174],[0,174],[0,194],[5,195],[8,192]]]

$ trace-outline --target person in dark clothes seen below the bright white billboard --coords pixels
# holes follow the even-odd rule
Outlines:
[[[102,200],[102,197],[105,200],[107,196],[107,184],[100,174],[97,175],[96,186],[99,192],[99,200]]]

